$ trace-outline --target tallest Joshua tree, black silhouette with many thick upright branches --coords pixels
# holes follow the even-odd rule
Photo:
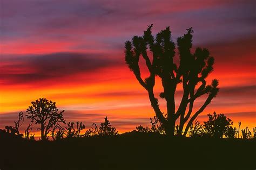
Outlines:
[[[197,48],[194,53],[191,52],[193,33],[191,27],[183,37],[177,39],[179,65],[176,65],[173,60],[176,45],[171,40],[170,27],[157,33],[156,37],[152,36],[152,27],[153,24],[148,26],[142,37],[134,36],[132,41],[125,42],[125,62],[149,94],[151,106],[166,133],[173,136],[176,121],[180,118],[178,134],[183,133],[187,122],[183,133],[186,136],[194,119],[204,111],[219,91],[218,80],[212,80],[209,85],[206,85],[205,80],[213,71],[214,58],[206,48]],[[152,53],[152,58],[148,52]],[[145,60],[149,70],[149,77],[145,79],[140,74],[140,58]],[[160,97],[166,101],[167,117],[160,110],[158,99],[154,94],[156,76],[160,77],[164,89]],[[183,96],[179,107],[176,108],[174,95],[179,83],[183,86]],[[197,111],[193,111],[194,101],[203,95],[207,95],[204,104]]]

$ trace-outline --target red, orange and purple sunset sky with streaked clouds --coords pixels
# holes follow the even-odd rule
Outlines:
[[[2,0],[0,129],[13,125],[18,112],[40,97],[55,101],[67,121],[82,121],[86,128],[105,116],[119,132],[149,125],[154,112],[125,65],[124,42],[153,23],[153,34],[170,26],[174,42],[192,26],[193,49],[206,47],[215,58],[207,80],[218,79],[220,93],[198,120],[203,123],[216,111],[252,131],[255,5],[247,0]],[[160,107],[164,110],[163,100]]]

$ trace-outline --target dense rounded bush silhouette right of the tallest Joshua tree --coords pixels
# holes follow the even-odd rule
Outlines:
[[[208,121],[204,122],[206,133],[215,138],[223,138],[224,134],[228,138],[234,138],[236,129],[230,129],[232,128],[230,125],[233,124],[230,118],[227,118],[224,114],[217,115],[216,112],[207,116]]]

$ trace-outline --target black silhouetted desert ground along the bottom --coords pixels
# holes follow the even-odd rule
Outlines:
[[[255,139],[123,134],[61,141],[0,138],[0,169],[255,169]]]

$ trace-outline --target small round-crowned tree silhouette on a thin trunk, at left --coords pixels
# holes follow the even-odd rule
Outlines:
[[[64,123],[63,111],[58,112],[56,103],[48,101],[46,98],[39,98],[35,102],[31,102],[31,106],[26,109],[28,115],[27,118],[31,119],[31,122],[41,125],[41,139],[46,140],[47,135],[51,128],[56,126],[58,123]]]

